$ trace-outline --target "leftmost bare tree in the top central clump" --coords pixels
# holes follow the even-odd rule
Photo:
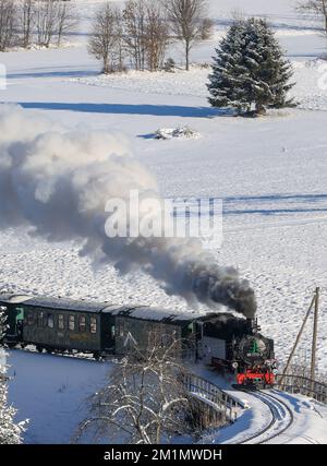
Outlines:
[[[107,2],[97,11],[88,43],[88,52],[102,61],[104,73],[122,71],[122,41],[121,12]]]

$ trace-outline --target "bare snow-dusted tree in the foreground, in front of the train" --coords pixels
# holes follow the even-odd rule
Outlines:
[[[90,398],[90,417],[81,423],[77,439],[90,429],[98,440],[112,442],[118,435],[123,442],[160,444],[190,432],[192,403],[177,345],[172,340],[164,348],[152,337],[146,354],[134,347],[111,373],[110,384]]]

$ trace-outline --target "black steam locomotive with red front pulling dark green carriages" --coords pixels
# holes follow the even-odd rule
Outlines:
[[[142,306],[0,295],[7,314],[4,344],[34,345],[38,351],[84,353],[96,359],[146,351],[173,337],[177,351],[222,373],[234,373],[237,385],[274,384],[274,340],[259,333],[257,322],[231,313],[172,312]]]

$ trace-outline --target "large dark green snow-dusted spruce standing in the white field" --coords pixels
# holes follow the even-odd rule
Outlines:
[[[259,115],[295,105],[287,96],[294,85],[291,63],[265,20],[237,20],[216,53],[208,84],[213,107]]]

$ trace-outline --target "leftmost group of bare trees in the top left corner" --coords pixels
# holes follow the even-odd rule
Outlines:
[[[73,3],[64,0],[0,0],[0,51],[61,45],[78,23]]]

